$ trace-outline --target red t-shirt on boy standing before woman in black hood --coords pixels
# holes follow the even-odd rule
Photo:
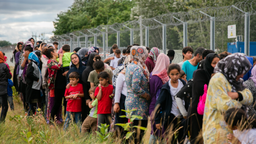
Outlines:
[[[65,97],[74,94],[84,94],[83,85],[78,83],[77,86],[70,86],[65,91]],[[82,98],[77,97],[76,100],[69,98],[66,104],[66,111],[69,112],[81,112],[82,111]]]

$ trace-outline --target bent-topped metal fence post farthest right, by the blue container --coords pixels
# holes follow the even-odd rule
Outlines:
[[[244,12],[241,9],[238,9],[235,5],[232,5],[233,8],[244,13],[244,54],[250,55],[250,13]]]

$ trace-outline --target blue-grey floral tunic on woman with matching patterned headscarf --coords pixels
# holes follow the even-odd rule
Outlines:
[[[143,117],[142,120],[148,120],[149,101],[141,97],[141,95],[145,93],[149,94],[148,79],[143,74],[140,66],[135,63],[131,63],[127,66],[126,84],[127,96],[124,104],[126,110],[137,109],[137,111],[132,112],[132,115],[138,115]],[[128,115],[126,114],[126,116]],[[139,119],[135,118],[135,120]]]

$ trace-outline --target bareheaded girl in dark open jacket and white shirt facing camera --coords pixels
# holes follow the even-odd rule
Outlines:
[[[179,133],[177,139],[174,139],[174,137],[172,137],[171,139],[171,143],[177,143],[177,140],[181,142],[183,137],[183,128],[181,128],[180,125],[180,122],[183,121],[183,117],[177,107],[177,103],[174,97],[176,96],[177,92],[179,92],[180,89],[186,84],[186,82],[179,78],[179,64],[170,64],[168,67],[168,75],[171,79],[162,86],[159,97],[157,98],[157,102],[155,103],[153,117],[155,114],[155,127],[157,129],[164,128],[166,134],[168,134],[171,131],[176,131],[177,129],[180,128],[178,130]],[[169,105],[170,103],[172,103],[172,105]],[[162,125],[160,125],[161,120]],[[173,129],[170,129],[172,128],[171,124],[173,124],[174,126]]]

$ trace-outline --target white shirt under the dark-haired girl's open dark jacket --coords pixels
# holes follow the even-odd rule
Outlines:
[[[171,92],[171,97],[172,97],[172,108],[171,108],[171,114],[174,114],[176,117],[182,117],[182,114],[180,113],[180,110],[177,108],[177,103],[175,100],[175,95],[180,91],[180,89],[183,87],[182,81],[178,80],[179,84],[178,87],[172,87],[171,86],[171,80],[168,81],[169,87],[170,87],[170,92]],[[185,105],[185,101],[183,100],[183,105]]]

